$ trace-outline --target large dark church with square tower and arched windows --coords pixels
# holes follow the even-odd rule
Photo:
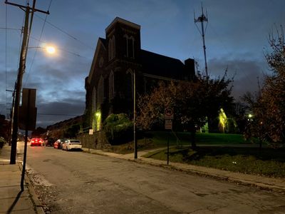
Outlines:
[[[147,93],[157,80],[190,80],[192,58],[185,63],[140,48],[140,26],[116,17],[99,38],[86,77],[86,124],[100,130],[110,113],[133,115],[133,75],[136,94]],[[171,41],[170,41],[171,42]]]

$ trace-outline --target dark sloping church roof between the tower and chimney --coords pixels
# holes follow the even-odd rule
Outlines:
[[[184,73],[184,64],[177,58],[162,56],[150,51],[140,51],[142,72],[155,76],[181,79]]]

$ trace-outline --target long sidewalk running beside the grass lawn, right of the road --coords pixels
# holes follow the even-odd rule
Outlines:
[[[285,179],[281,179],[281,178],[267,178],[267,177],[259,176],[259,175],[248,175],[248,174],[244,174],[244,173],[234,173],[234,172],[230,172],[230,171],[226,171],[226,170],[219,170],[219,169],[215,169],[215,168],[207,168],[207,167],[198,166],[198,165],[189,165],[189,164],[185,164],[185,163],[172,163],[172,162],[170,162],[170,164],[167,165],[166,161],[159,161],[159,160],[155,160],[152,158],[143,158],[142,157],[143,155],[145,155],[146,153],[148,153],[150,151],[139,151],[137,160],[134,160],[133,153],[122,155],[122,154],[110,153],[110,152],[105,152],[105,151],[96,150],[96,149],[90,149],[89,150],[88,148],[83,148],[83,151],[85,151],[87,153],[90,152],[93,154],[102,155],[102,156],[110,156],[113,158],[125,159],[128,161],[136,161],[138,163],[147,163],[150,165],[156,165],[156,166],[160,166],[160,167],[171,168],[174,170],[184,171],[186,173],[195,173],[198,175],[206,175],[206,176],[213,177],[213,178],[229,180],[232,182],[242,183],[244,185],[254,185],[254,186],[257,186],[259,188],[264,188],[267,190],[275,190],[278,192],[285,193]]]

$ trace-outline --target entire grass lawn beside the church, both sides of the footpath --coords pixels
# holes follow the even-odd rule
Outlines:
[[[251,148],[242,135],[197,133],[197,148],[189,146],[190,133],[148,132],[138,140],[138,151],[165,148],[170,138],[170,161],[202,165],[240,173],[285,178],[285,148]],[[180,146],[180,147],[177,147]],[[257,144],[255,144],[256,147]],[[112,146],[115,153],[133,153],[133,142]],[[146,158],[165,160],[166,150],[148,153]]]

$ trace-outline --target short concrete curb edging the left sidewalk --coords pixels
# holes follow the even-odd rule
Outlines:
[[[23,169],[23,162],[22,161],[17,161],[20,170],[22,171]],[[31,195],[31,200],[32,203],[34,205],[34,208],[36,209],[36,213],[38,214],[45,214],[45,212],[43,211],[43,205],[41,205],[40,200],[38,199],[38,195],[36,195],[36,191],[33,188],[33,185],[31,185],[31,180],[28,178],[28,175],[25,173],[25,182],[26,182],[26,186],[28,188],[28,192]]]

